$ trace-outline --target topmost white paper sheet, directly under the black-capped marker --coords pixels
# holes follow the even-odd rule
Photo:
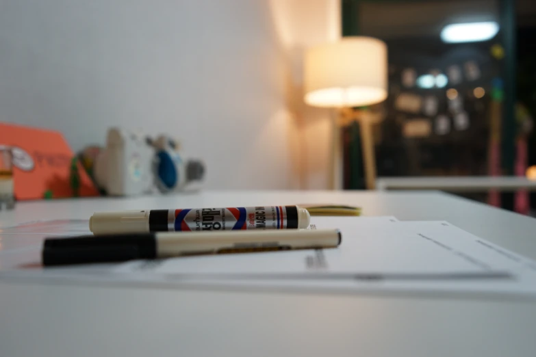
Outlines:
[[[420,233],[416,224],[390,220],[356,220],[353,217],[312,217],[320,228],[340,228],[338,248],[294,250],[257,254],[225,254],[165,259],[151,265],[156,274],[192,276],[252,276],[255,278],[418,278],[426,274],[449,276],[493,276],[507,272],[486,265],[476,252],[462,252],[457,241],[446,241],[443,226],[426,225],[430,237]],[[432,228],[434,227],[434,228]],[[435,237],[439,241],[435,241]],[[461,241],[465,243],[465,241]],[[457,243],[460,244],[460,243]],[[476,256],[474,256],[476,254]],[[120,265],[115,272],[139,271],[142,261]]]

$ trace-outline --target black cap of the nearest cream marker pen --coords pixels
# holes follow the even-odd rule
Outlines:
[[[47,238],[42,250],[45,266],[154,258],[156,240],[151,233]]]

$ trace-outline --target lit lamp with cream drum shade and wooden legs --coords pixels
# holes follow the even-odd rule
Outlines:
[[[372,119],[354,107],[385,101],[387,98],[387,46],[377,38],[344,37],[337,42],[312,47],[305,54],[305,103],[315,107],[340,109],[343,121],[358,120],[366,186],[374,189],[376,159]],[[339,123],[333,127],[331,177],[339,147]],[[333,181],[333,180],[332,180]]]

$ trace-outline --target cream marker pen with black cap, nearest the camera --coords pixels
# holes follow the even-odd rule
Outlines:
[[[241,230],[238,232],[144,233],[48,238],[42,263],[66,265],[155,259],[190,254],[264,252],[305,248],[334,248],[338,229]]]

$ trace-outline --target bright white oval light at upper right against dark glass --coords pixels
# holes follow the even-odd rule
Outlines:
[[[443,42],[476,42],[487,41],[499,31],[495,21],[483,23],[452,23],[443,27],[441,39]]]

